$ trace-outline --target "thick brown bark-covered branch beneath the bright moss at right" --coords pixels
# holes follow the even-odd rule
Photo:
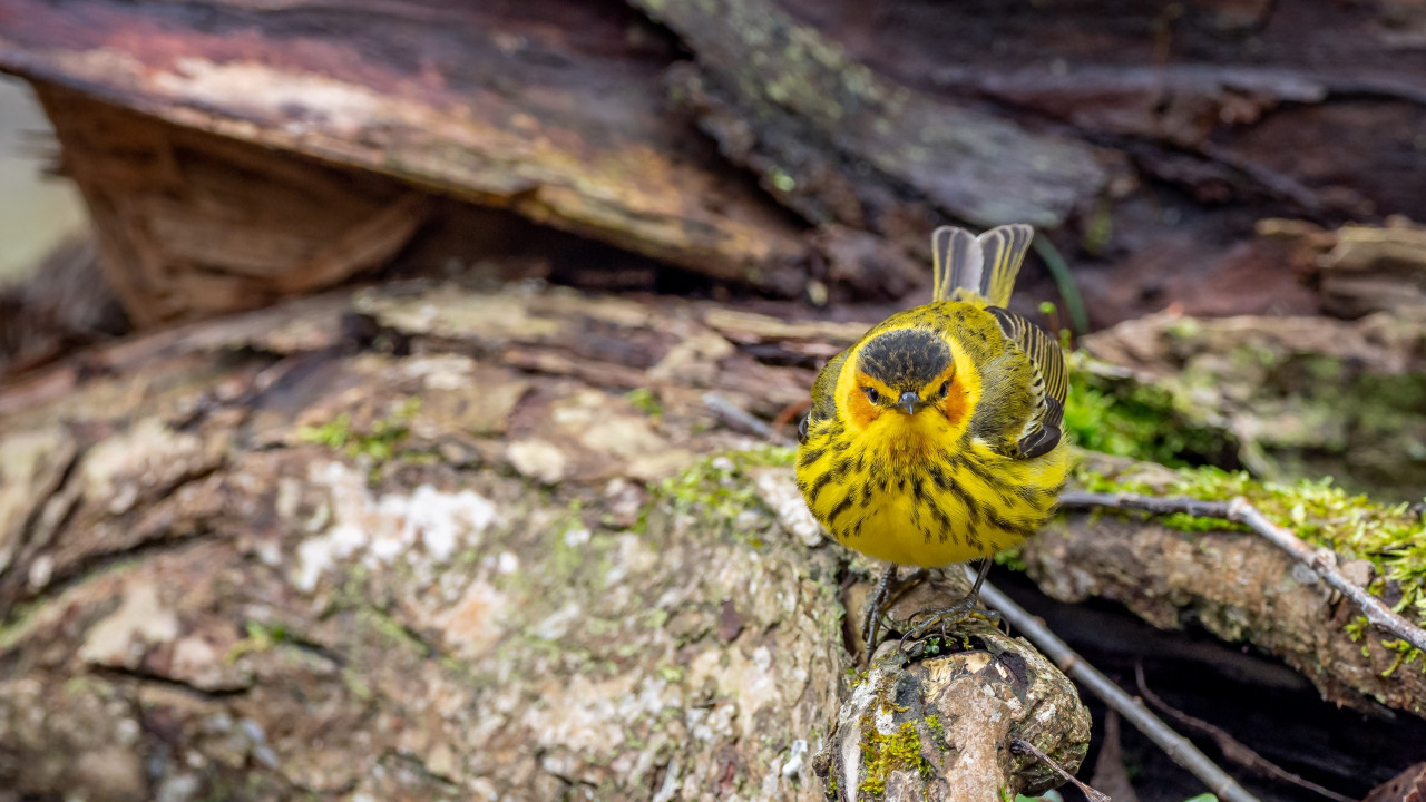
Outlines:
[[[1149,485],[1174,479],[1158,465],[1095,458],[1105,475]],[[1228,642],[1252,644],[1306,676],[1336,705],[1378,705],[1426,718],[1426,671],[1402,662],[1390,635],[1360,615],[1285,551],[1246,531],[1184,531],[1141,515],[1070,512],[1021,552],[1027,574],[1062,602],[1115,601],[1161,629],[1204,628]],[[1366,587],[1366,561],[1343,572]],[[1419,658],[1417,658],[1419,659]]]

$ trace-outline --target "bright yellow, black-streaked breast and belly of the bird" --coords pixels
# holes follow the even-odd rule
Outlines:
[[[861,471],[836,469],[847,454],[799,462],[813,515],[843,545],[924,568],[1022,542],[1048,519],[1068,468],[1064,445],[1037,460],[1011,460],[974,442],[903,461],[848,454],[853,464],[861,458]]]

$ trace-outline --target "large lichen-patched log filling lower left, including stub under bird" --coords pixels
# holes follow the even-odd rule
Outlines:
[[[844,792],[1050,785],[1008,735],[1074,768],[1072,686],[990,628],[858,681],[844,594],[867,567],[823,541],[786,450],[702,402],[769,414],[806,392],[810,371],[720,333],[739,325],[838,331],[389,285],[6,387],[0,785],[819,799],[811,758],[857,682],[891,712],[837,731],[883,755]],[[913,748],[903,728],[928,715]]]

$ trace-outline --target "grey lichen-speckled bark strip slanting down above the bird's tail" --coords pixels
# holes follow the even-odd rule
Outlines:
[[[674,96],[813,223],[893,231],[927,204],[978,225],[1055,228],[1108,180],[1087,146],[880,77],[766,0],[633,4],[703,68],[674,71]]]

